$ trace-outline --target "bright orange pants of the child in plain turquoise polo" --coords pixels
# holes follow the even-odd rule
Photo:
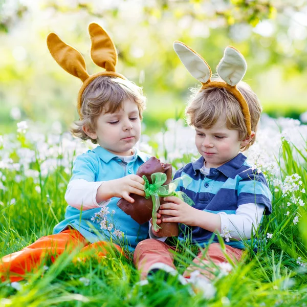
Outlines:
[[[113,245],[122,253],[122,249],[118,245]],[[46,256],[49,256],[51,261],[54,262],[57,256],[64,251],[72,251],[75,248],[81,248],[80,252],[95,249],[98,251],[96,256],[103,257],[107,254],[107,246],[110,246],[110,243],[104,241],[90,244],[75,229],[43,236],[21,251],[0,259],[0,277],[2,281],[6,279],[10,279],[11,282],[20,281],[25,278],[27,272],[37,268]]]

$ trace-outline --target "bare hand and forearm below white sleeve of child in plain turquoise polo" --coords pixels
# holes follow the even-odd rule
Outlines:
[[[96,201],[99,203],[113,197],[120,197],[129,203],[134,203],[134,199],[129,194],[135,193],[145,196],[144,184],[144,179],[138,175],[128,175],[123,178],[105,181],[97,190]]]

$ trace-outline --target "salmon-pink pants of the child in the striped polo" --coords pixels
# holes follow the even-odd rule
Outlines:
[[[141,279],[146,278],[149,268],[157,262],[162,262],[176,269],[173,264],[174,254],[171,250],[175,250],[175,248],[156,239],[146,239],[140,242],[134,253],[134,262],[137,269],[141,272]],[[243,251],[226,245],[226,254],[233,261],[239,261],[242,258]],[[200,271],[202,275],[212,279],[214,275],[205,267],[210,261],[215,265],[221,264],[222,262],[228,262],[219,243],[211,243],[206,255],[203,255],[203,249],[199,250],[197,257],[193,260],[193,264],[186,269],[183,276],[189,278],[190,274],[197,270]]]

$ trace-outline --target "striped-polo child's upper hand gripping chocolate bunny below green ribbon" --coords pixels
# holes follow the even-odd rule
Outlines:
[[[183,223],[188,226],[198,225],[198,213],[200,210],[191,207],[176,196],[168,196],[164,200],[169,203],[161,205],[158,212],[172,215],[172,217],[165,217],[162,222]]]

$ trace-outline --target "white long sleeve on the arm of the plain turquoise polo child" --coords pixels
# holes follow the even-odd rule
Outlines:
[[[110,200],[103,201],[99,204],[96,201],[97,190],[102,183],[103,181],[88,182],[84,179],[72,180],[68,184],[65,201],[78,210],[82,208],[82,211],[106,206]]]

